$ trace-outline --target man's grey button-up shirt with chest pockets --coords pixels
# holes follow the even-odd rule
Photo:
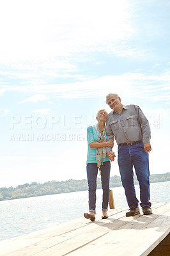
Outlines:
[[[107,140],[116,140],[118,144],[143,140],[150,142],[150,124],[143,111],[136,105],[127,105],[121,109],[119,114],[112,111],[107,115],[106,121]],[[107,147],[107,152],[111,151]]]

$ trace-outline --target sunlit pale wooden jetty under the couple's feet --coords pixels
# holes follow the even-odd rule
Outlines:
[[[169,234],[170,203],[152,205],[153,214],[126,217],[128,208],[84,217],[0,242],[1,256],[145,256]],[[83,212],[82,212],[83,214]],[[56,215],[57,218],[57,215]],[[166,256],[166,253],[165,253]]]

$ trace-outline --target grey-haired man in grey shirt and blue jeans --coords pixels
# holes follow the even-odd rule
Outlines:
[[[118,164],[121,182],[129,206],[126,216],[140,214],[135,195],[134,173],[137,175],[140,187],[141,207],[143,214],[152,214],[150,200],[150,171],[148,153],[150,145],[150,125],[143,111],[136,105],[124,106],[118,94],[110,93],[106,96],[106,103],[113,111],[107,116],[107,140],[118,143]],[[107,147],[107,156],[114,160],[114,152]]]

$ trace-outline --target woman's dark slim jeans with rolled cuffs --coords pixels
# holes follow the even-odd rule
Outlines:
[[[109,203],[109,180],[111,172],[111,163],[106,161],[101,165],[101,181],[103,189],[103,202],[102,211],[107,211]],[[87,164],[88,186],[89,186],[89,211],[95,212],[96,210],[96,189],[97,189],[97,163]]]

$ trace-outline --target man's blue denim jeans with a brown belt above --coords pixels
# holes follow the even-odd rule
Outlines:
[[[150,200],[150,170],[148,153],[144,151],[143,142],[132,145],[118,146],[118,164],[120,167],[121,182],[125,189],[128,206],[135,208],[139,201],[135,196],[134,187],[134,173],[133,166],[137,180],[140,187],[141,207],[151,206]]]

